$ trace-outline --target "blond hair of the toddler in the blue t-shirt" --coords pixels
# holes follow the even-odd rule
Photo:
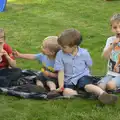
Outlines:
[[[55,52],[55,54],[61,49],[57,39],[57,36],[48,36],[44,39],[48,42],[48,48],[51,51]]]

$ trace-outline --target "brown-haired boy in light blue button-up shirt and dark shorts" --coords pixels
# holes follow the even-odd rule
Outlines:
[[[71,96],[78,94],[76,88],[91,92],[90,87],[87,87],[91,85],[92,92],[98,95],[102,103],[114,103],[116,96],[106,93],[98,86],[92,86],[94,83],[89,69],[92,66],[92,59],[86,49],[79,47],[81,42],[81,34],[75,29],[65,30],[58,37],[58,44],[62,50],[57,53],[54,66],[58,71],[59,88],[57,90],[63,91],[65,96]]]

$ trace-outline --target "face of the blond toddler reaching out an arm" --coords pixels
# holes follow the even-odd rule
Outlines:
[[[48,57],[55,55],[55,53],[49,49],[49,43],[47,41],[43,42],[43,45],[41,48],[44,55],[47,55]]]

